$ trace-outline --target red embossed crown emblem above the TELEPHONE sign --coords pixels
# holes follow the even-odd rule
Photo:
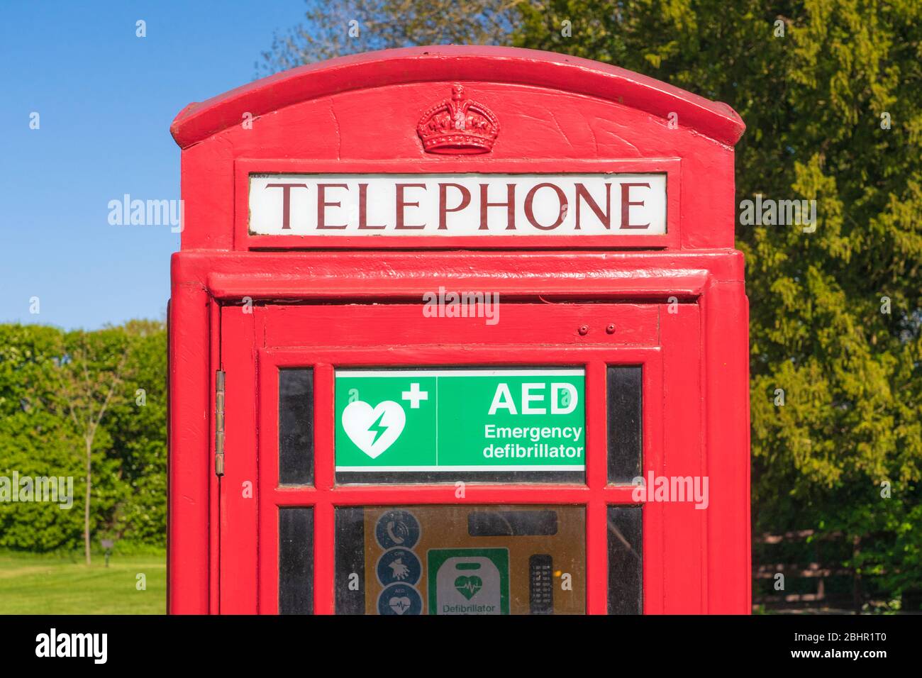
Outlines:
[[[452,98],[423,113],[416,131],[427,153],[473,155],[490,152],[500,123],[482,103],[465,99],[464,88],[455,84]]]

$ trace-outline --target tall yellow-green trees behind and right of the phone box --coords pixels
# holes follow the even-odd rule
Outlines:
[[[845,565],[894,596],[918,587],[922,4],[496,1],[468,6],[461,22],[439,14],[442,3],[412,5],[428,30],[376,29],[400,23],[403,4],[359,4],[379,17],[367,44],[511,43],[726,101],[748,127],[739,199],[816,200],[813,232],[737,226],[751,303],[754,526],[843,532]],[[357,5],[333,6],[313,6],[300,30],[332,26],[338,42],[277,42],[270,69],[368,49],[339,28],[336,12]],[[513,30],[474,28],[498,16]]]

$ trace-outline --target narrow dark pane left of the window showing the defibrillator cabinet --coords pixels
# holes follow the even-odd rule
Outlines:
[[[313,613],[313,509],[278,509],[278,613]]]

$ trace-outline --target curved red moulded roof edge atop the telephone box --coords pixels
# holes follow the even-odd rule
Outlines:
[[[533,85],[615,101],[733,145],[746,126],[726,103],[710,101],[652,77],[566,54],[515,47],[435,45],[352,54],[302,65],[200,103],[190,103],[170,127],[183,149],[254,117],[353,89],[443,80]]]

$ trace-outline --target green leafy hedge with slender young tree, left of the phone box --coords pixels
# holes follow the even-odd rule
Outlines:
[[[89,450],[89,456],[88,456]],[[71,549],[100,531],[162,546],[166,332],[0,325],[0,475],[76,479],[71,510],[0,503],[0,545]],[[88,472],[89,471],[89,472]]]

